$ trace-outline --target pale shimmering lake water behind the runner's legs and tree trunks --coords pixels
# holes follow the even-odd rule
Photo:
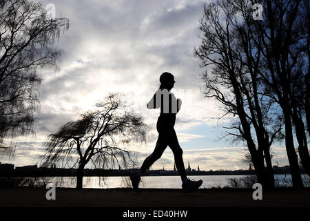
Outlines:
[[[203,180],[200,188],[224,187],[229,186],[228,179],[247,177],[247,175],[197,175],[188,176],[189,179]],[[44,179],[44,178],[43,178]],[[72,187],[76,186],[76,177],[45,177],[44,182],[53,182],[56,187]],[[310,186],[310,178],[308,175],[302,175],[304,186]],[[291,175],[276,174],[276,186],[291,186]],[[180,189],[182,182],[179,176],[147,176],[143,177],[140,188],[169,188]],[[84,177],[84,188],[124,188],[131,187],[129,177]]]

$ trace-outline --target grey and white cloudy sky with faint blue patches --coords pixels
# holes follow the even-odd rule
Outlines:
[[[205,0],[207,1],[207,0]],[[46,135],[62,124],[93,108],[109,92],[125,93],[150,128],[146,144],[134,144],[138,165],[152,153],[159,110],[146,104],[159,86],[158,78],[167,71],[175,76],[172,92],[183,100],[177,115],[176,133],[183,148],[184,162],[196,169],[247,169],[242,162],[245,147],[220,140],[224,130],[216,102],[203,96],[198,60],[200,0],[46,0],[54,4],[56,17],[68,17],[70,28],[55,44],[64,50],[59,71],[42,70],[41,111],[36,134],[19,137],[14,158],[2,162],[17,166],[34,164],[42,153]],[[273,146],[276,162],[286,165],[283,144]],[[173,169],[174,157],[167,148],[152,169]]]

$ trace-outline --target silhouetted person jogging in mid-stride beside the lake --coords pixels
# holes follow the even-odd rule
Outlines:
[[[141,175],[149,169],[156,160],[161,158],[161,155],[165,151],[165,148],[169,146],[174,153],[174,162],[176,163],[176,169],[182,179],[182,189],[185,191],[192,191],[198,189],[203,180],[193,181],[189,180],[186,176],[185,166],[183,162],[183,151],[178,144],[178,137],[176,137],[176,131],[174,131],[174,124],[176,122],[176,113],[180,111],[182,101],[176,99],[170,90],[174,87],[174,75],[171,73],[163,73],[159,78],[161,86],[156,91],[152,99],[147,104],[147,108],[154,109],[160,108],[161,114],[158,117],[156,129],[158,132],[158,140],[156,142],[155,149],[151,155],[149,155],[138,171],[135,171],[130,175],[132,181],[132,187],[138,190],[139,182],[141,181]]]

